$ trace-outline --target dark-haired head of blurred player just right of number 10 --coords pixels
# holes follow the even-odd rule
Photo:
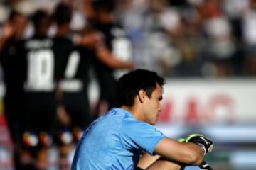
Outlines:
[[[70,23],[72,18],[72,8],[67,4],[61,3],[55,6],[55,10],[53,12],[53,20],[58,24],[58,26],[62,26],[65,23]]]

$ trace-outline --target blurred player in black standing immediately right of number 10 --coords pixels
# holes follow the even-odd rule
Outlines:
[[[73,43],[70,30],[72,14],[72,6],[63,2],[57,4],[53,11],[57,28],[54,35],[55,55],[65,61],[58,94],[57,139],[60,145],[60,169],[69,168],[68,154],[73,144],[78,141],[82,130],[91,121],[87,86],[92,55],[86,47]]]

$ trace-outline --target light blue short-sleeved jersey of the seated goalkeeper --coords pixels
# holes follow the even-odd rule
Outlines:
[[[142,150],[153,154],[164,137],[154,125],[136,120],[122,108],[113,108],[85,130],[71,169],[134,169]]]

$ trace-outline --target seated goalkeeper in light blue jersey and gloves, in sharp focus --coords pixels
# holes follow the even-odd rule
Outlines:
[[[71,169],[160,170],[200,165],[213,147],[211,140],[191,135],[186,142],[179,142],[154,126],[161,112],[164,83],[149,70],[124,74],[117,84],[120,107],[112,108],[85,130]]]

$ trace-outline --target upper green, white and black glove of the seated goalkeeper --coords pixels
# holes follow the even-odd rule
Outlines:
[[[188,135],[185,142],[193,142],[203,149],[203,153],[207,154],[213,150],[213,141],[200,134]]]

